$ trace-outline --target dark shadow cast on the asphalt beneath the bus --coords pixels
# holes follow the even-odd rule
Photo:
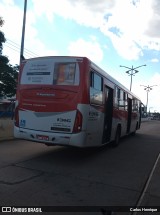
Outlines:
[[[33,143],[35,144],[35,143]],[[154,147],[155,146],[155,147]],[[39,145],[37,144],[37,147]],[[77,167],[85,165],[90,162],[99,162],[101,158],[107,162],[107,158],[118,156],[118,154],[130,154],[130,153],[143,153],[145,148],[154,150],[159,148],[159,138],[150,134],[136,133],[136,135],[128,135],[120,139],[120,143],[117,147],[112,147],[112,144],[102,145],[101,147],[91,148],[76,148],[76,147],[65,147],[65,146],[46,146],[42,145],[42,150],[32,157],[31,160],[26,161],[27,163],[40,163],[40,165],[49,164],[61,164],[64,166],[73,165]],[[47,149],[44,151],[44,148]],[[26,163],[25,162],[25,163]]]

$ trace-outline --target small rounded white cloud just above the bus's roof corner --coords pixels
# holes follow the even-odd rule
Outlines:
[[[69,55],[86,56],[96,63],[99,63],[103,58],[103,51],[95,38],[92,38],[91,41],[85,41],[80,38],[71,42],[68,50]]]

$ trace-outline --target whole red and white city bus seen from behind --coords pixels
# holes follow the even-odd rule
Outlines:
[[[86,57],[39,57],[20,67],[16,138],[46,145],[117,145],[140,123],[140,99]]]

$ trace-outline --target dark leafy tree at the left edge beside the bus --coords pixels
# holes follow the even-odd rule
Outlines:
[[[3,24],[4,20],[0,17],[0,26]],[[16,94],[18,65],[12,66],[8,57],[2,55],[5,41],[5,35],[0,31],[0,97],[12,97]]]

